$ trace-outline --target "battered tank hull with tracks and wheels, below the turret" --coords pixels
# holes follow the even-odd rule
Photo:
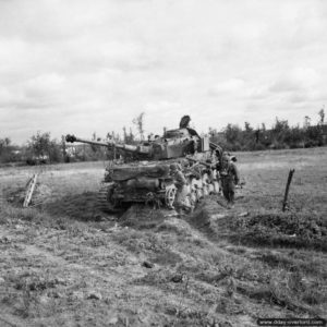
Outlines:
[[[107,202],[112,209],[124,207],[128,203],[173,208],[177,189],[169,173],[169,167],[171,164],[179,164],[187,182],[184,207],[194,207],[201,198],[218,194],[220,191],[217,171],[210,165],[199,165],[208,159],[209,154],[197,154],[192,158],[179,160],[112,165],[107,169],[104,180]],[[104,197],[102,193],[104,190],[100,192]]]

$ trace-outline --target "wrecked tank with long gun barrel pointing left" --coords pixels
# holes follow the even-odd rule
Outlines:
[[[187,181],[185,207],[194,207],[208,194],[219,192],[217,166],[221,147],[199,136],[189,128],[190,117],[185,116],[177,130],[166,131],[136,145],[114,141],[88,141],[66,135],[66,142],[81,142],[94,146],[106,146],[118,150],[122,157],[112,160],[106,168],[99,191],[101,210],[114,211],[131,203],[154,204],[173,208],[177,187],[170,175],[170,165],[178,164]],[[129,156],[125,156],[129,154]]]

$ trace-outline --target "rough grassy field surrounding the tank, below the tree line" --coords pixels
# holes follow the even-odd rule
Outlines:
[[[210,197],[185,219],[142,206],[98,211],[105,162],[1,169],[0,326],[326,318],[327,148],[238,159],[246,184],[235,206]],[[23,209],[34,172],[34,204]]]

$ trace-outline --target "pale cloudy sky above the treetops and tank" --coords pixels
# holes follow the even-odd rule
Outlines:
[[[0,0],[0,138],[318,121],[325,0]]]

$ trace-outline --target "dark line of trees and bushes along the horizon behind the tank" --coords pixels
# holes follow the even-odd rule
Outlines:
[[[116,132],[107,133],[100,138],[93,133],[90,140],[124,142],[137,144],[145,140],[144,112],[133,119],[136,132],[132,128],[123,128],[122,135]],[[265,150],[282,148],[303,148],[325,146],[327,144],[327,124],[325,124],[325,110],[318,112],[318,121],[312,123],[308,117],[304,118],[302,126],[290,126],[287,120],[276,118],[270,129],[265,123],[253,128],[250,122],[244,122],[241,128],[229,123],[218,131],[209,128],[207,134],[210,141],[218,143],[230,152],[238,150]],[[12,144],[10,137],[0,138],[0,164],[21,162],[22,165],[39,165],[73,161],[93,161],[113,159],[119,155],[114,148],[106,148],[89,144],[66,144],[64,136],[60,140],[51,138],[50,132],[37,132],[32,135],[24,146]]]

